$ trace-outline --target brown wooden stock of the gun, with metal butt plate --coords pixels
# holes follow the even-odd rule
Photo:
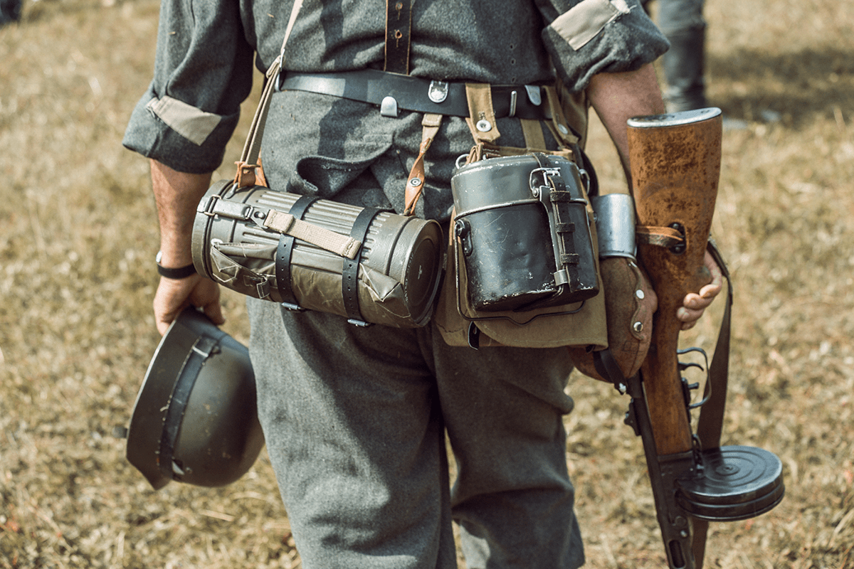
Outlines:
[[[652,345],[641,375],[659,456],[692,448],[676,359],[681,328],[676,311],[687,293],[711,281],[703,258],[717,198],[721,137],[719,109],[629,120],[637,224],[675,228],[684,236],[678,248],[638,241],[638,257],[658,294]]]

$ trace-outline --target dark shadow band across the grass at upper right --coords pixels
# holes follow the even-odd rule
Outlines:
[[[711,104],[730,119],[798,128],[842,113],[854,119],[854,49],[818,46],[772,54],[739,49],[707,62]]]

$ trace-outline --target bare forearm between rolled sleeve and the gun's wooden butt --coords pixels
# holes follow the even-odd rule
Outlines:
[[[664,113],[664,100],[655,70],[647,64],[637,71],[599,73],[590,80],[587,95],[617,147],[631,188],[626,121],[640,115]]]

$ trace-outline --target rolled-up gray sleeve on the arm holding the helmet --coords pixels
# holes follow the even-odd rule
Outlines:
[[[252,88],[253,51],[236,1],[163,0],[154,78],[122,143],[174,170],[215,170]]]

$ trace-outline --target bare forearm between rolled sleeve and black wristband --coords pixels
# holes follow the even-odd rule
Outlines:
[[[161,264],[183,267],[193,262],[190,239],[196,206],[210,186],[210,174],[188,174],[151,160],[151,185],[161,228]]]

